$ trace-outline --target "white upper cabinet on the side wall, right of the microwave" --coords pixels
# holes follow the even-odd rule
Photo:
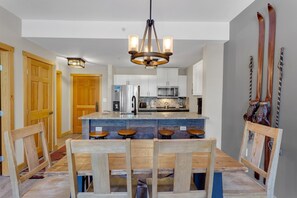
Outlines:
[[[193,66],[193,95],[201,96],[203,83],[203,60]]]

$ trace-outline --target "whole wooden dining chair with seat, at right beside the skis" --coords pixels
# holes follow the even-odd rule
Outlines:
[[[244,172],[223,173],[224,197],[274,197],[274,184],[282,139],[282,129],[272,128],[247,121],[243,132],[239,161],[266,179],[265,185]],[[249,133],[253,141],[249,141]],[[265,137],[273,140],[267,171],[261,168]],[[252,145],[251,145],[252,144]],[[248,149],[251,149],[250,152]],[[249,154],[250,153],[250,154]]]

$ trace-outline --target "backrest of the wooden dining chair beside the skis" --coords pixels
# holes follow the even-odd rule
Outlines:
[[[253,133],[253,141],[249,141]],[[266,179],[266,190],[273,196],[275,177],[278,165],[280,145],[282,140],[282,129],[272,128],[247,121],[244,127],[243,139],[239,154],[239,161],[254,172]],[[265,147],[265,138],[270,138],[271,149],[268,170],[261,168],[261,159]],[[248,151],[248,149],[251,149]]]

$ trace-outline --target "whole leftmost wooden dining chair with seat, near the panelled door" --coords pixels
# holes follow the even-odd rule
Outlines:
[[[40,179],[27,191],[21,192],[21,184],[34,176],[44,168],[51,166],[51,159],[48,153],[47,141],[45,139],[45,129],[43,123],[38,123],[21,129],[6,131],[4,133],[5,148],[8,160],[8,169],[12,186],[13,198],[65,198],[70,196],[68,177],[53,176]],[[39,159],[39,153],[36,147],[36,136],[41,143],[43,158]],[[16,141],[23,141],[28,172],[20,174],[21,170],[17,165],[15,144]],[[20,144],[20,143],[18,143]]]

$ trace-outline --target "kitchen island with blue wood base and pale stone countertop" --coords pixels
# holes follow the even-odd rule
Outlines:
[[[121,138],[120,129],[132,128],[137,131],[135,138],[159,138],[159,129],[175,131],[173,138],[189,138],[186,129],[204,129],[207,117],[192,112],[139,112],[137,115],[120,112],[95,112],[80,117],[82,120],[82,138],[89,139],[89,133],[96,127],[108,131],[108,138]]]

